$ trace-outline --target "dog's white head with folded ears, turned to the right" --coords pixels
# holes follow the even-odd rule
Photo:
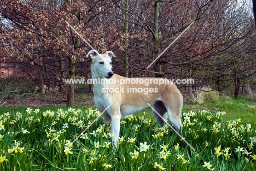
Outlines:
[[[86,57],[92,58],[92,71],[98,78],[111,78],[114,73],[112,72],[112,57],[115,54],[112,51],[106,51],[104,54],[99,54],[96,50],[88,52]],[[92,74],[94,74],[92,73]]]

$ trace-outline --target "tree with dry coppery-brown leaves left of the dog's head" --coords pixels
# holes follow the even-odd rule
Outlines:
[[[88,37],[92,46],[101,47],[102,34],[97,27],[85,27],[93,20],[93,10],[80,1],[1,1],[2,20],[10,25],[1,34],[2,55],[20,65],[32,66],[31,75],[39,73],[41,82],[42,77],[59,73],[63,78],[67,71],[68,78],[73,79],[75,66],[84,61],[88,50],[65,21]],[[67,85],[67,90],[67,105],[74,107],[74,85]]]

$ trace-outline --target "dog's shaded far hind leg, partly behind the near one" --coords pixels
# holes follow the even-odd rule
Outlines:
[[[154,109],[154,110],[153,110]],[[164,103],[162,103],[162,101],[157,101],[153,104],[153,109],[152,109],[152,113],[156,119],[156,121],[158,121],[158,123],[161,124],[166,124],[166,112],[167,109],[165,108]]]

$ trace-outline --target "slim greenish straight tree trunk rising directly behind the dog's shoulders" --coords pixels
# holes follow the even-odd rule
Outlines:
[[[128,23],[129,23],[129,12],[128,12],[128,0],[125,0],[125,25],[124,25],[124,33],[128,34]],[[124,66],[124,77],[129,77],[129,40],[125,39],[125,66]]]

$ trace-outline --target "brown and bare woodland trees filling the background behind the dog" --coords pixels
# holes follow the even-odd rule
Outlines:
[[[38,85],[35,92],[63,93],[67,105],[74,106],[76,85],[65,85],[63,79],[90,78],[91,60],[85,55],[91,48],[65,21],[98,52],[114,52],[116,74],[193,78],[194,85],[178,85],[183,93],[211,87],[255,98],[252,1],[1,0],[0,100],[7,93],[7,69],[15,71],[9,78],[33,82]]]

